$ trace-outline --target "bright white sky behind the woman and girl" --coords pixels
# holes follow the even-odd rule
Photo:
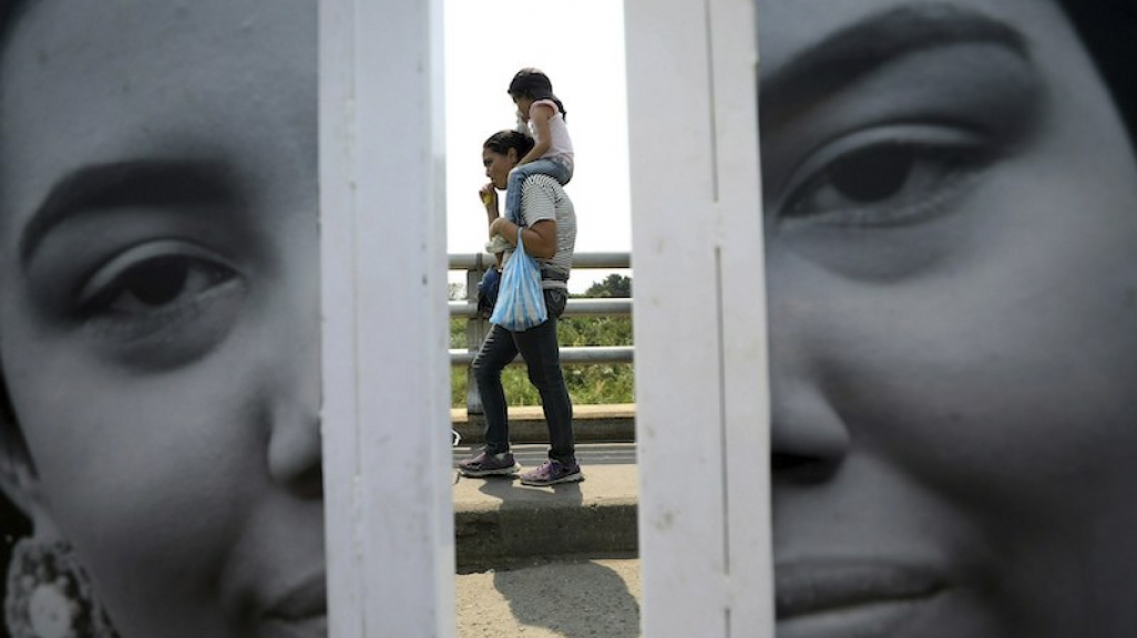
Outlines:
[[[568,114],[576,252],[631,250],[623,2],[446,0],[445,8],[447,250],[476,252],[487,240],[482,142],[514,127],[506,89],[523,67],[549,76]],[[570,290],[608,273],[575,270]]]

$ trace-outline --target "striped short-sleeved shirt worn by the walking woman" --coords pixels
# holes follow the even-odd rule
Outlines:
[[[542,288],[567,288],[564,281],[557,280],[568,279],[572,254],[576,246],[576,212],[568,194],[553,177],[531,175],[521,187],[521,216],[525,227],[532,227],[542,219],[553,219],[557,223],[556,255],[549,259],[538,258],[537,263],[540,264],[542,274],[546,276],[553,274],[556,277],[542,281]],[[513,250],[506,250],[501,260],[503,266],[512,256]]]

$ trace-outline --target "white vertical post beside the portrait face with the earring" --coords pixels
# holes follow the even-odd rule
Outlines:
[[[454,636],[441,0],[322,0],[330,635]]]

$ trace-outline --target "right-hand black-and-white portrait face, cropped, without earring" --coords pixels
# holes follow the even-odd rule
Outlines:
[[[1137,166],[1060,8],[758,0],[779,638],[1137,632]]]

